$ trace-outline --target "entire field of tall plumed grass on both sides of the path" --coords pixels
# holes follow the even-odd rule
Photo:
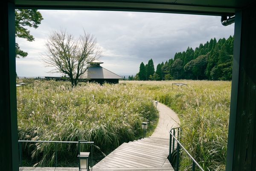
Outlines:
[[[172,83],[182,82],[188,88]],[[122,81],[121,84],[80,85],[36,81],[35,90],[17,90],[19,139],[94,141],[102,151],[142,135],[141,122],[157,123],[152,100],[171,107],[181,120],[182,144],[205,171],[224,171],[230,108],[230,81]],[[151,130],[152,131],[152,130]],[[87,150],[84,146],[84,150]],[[38,165],[53,165],[54,145],[25,145]],[[59,145],[58,155],[75,157],[76,145]],[[182,156],[181,170],[191,170]]]

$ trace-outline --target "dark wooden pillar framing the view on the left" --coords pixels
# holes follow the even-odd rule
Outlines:
[[[18,171],[15,6],[0,2],[0,170]]]

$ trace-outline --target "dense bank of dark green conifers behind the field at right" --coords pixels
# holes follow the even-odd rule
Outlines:
[[[233,41],[232,36],[227,40],[219,39],[218,42],[213,38],[207,43],[200,43],[195,51],[188,47],[186,52],[176,52],[165,64],[163,62],[158,64],[156,72],[160,80],[173,78],[231,80]]]

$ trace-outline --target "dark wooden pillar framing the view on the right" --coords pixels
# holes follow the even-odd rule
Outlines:
[[[256,3],[236,12],[226,171],[256,171]]]

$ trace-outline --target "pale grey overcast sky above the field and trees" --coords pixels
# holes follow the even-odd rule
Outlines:
[[[20,48],[29,53],[26,58],[17,58],[18,76],[61,75],[49,73],[41,60],[45,43],[52,31],[66,29],[78,38],[93,34],[102,48],[105,67],[119,75],[135,75],[140,63],[154,66],[173,58],[175,52],[193,49],[211,38],[228,38],[234,34],[234,24],[222,26],[217,16],[165,14],[146,12],[70,11],[40,10],[44,20],[38,29],[29,28],[35,41],[16,38]]]

